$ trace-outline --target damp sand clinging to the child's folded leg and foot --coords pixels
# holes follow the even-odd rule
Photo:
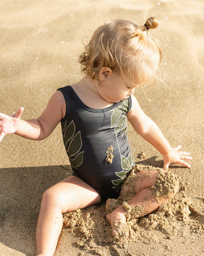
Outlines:
[[[136,195],[136,185],[137,181],[142,181],[146,177],[151,177],[152,173],[158,172],[157,178],[155,181],[155,185],[151,186],[149,188],[149,191],[145,191],[145,197],[143,198],[142,205],[132,205],[130,206],[127,201],[129,200],[129,203],[131,204],[131,199]],[[141,175],[140,175],[141,173]],[[108,221],[111,223],[113,234],[115,235],[115,239],[119,239],[122,241],[125,241],[126,238],[130,236],[129,228],[128,230],[128,224],[127,222],[129,220],[136,220],[152,211],[155,211],[159,208],[161,204],[164,204],[168,202],[178,191],[179,182],[178,178],[169,171],[164,172],[161,168],[154,168],[152,166],[143,166],[143,165],[136,165],[128,175],[128,178],[124,181],[123,188],[129,188],[128,191],[125,191],[121,196],[119,196],[118,199],[108,200],[106,205],[106,211],[109,213],[114,209],[114,201],[115,201],[115,208],[117,208],[119,205],[122,205],[125,212],[123,213],[126,217],[126,222],[124,223],[124,220],[121,219],[121,221],[114,221],[111,222],[111,219],[113,219],[113,214],[108,217]],[[155,204],[151,203],[151,198],[158,202],[158,208]],[[141,200],[141,199],[140,199]],[[108,209],[108,207],[111,205],[111,210]],[[118,215],[117,213],[114,213],[115,217]],[[123,230],[123,231],[122,231]],[[126,230],[126,233],[125,233]],[[121,232],[122,231],[122,232]]]

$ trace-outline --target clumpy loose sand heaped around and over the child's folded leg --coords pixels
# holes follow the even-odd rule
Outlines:
[[[157,169],[160,171],[155,186],[150,188],[157,197],[160,197],[162,193],[167,195],[174,189],[175,183],[178,182],[178,178],[169,171],[164,174],[163,170],[159,168],[136,165],[136,168],[128,176],[125,183],[135,182],[135,172],[144,169]],[[166,191],[164,191],[165,189]],[[112,247],[114,250],[119,246],[126,250],[126,255],[133,255],[127,250],[127,243],[130,240],[136,242],[140,240],[144,243],[148,243],[150,240],[157,242],[157,232],[161,232],[169,239],[174,239],[175,236],[185,236],[186,229],[183,227],[190,229],[192,232],[204,233],[204,204],[200,202],[200,199],[191,200],[187,198],[185,187],[180,188],[180,191],[170,202],[143,217],[138,217],[142,207],[136,206],[133,209],[126,202],[134,195],[134,190],[129,190],[128,193],[125,192],[118,199],[108,199],[106,203],[91,205],[84,209],[65,213],[64,225],[79,237],[77,243],[82,250],[91,250],[96,252],[97,255],[103,255],[102,246]],[[111,226],[106,221],[106,214],[120,204],[123,204],[126,209],[127,225],[119,227],[116,236],[113,237]],[[127,231],[125,230],[127,227],[130,236],[127,236]],[[79,233],[81,234],[80,236]],[[83,255],[83,252],[81,255]]]

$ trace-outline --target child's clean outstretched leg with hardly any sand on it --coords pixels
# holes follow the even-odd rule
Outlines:
[[[62,213],[100,201],[100,195],[76,176],[68,177],[46,190],[36,229],[37,255],[54,254],[63,225]]]

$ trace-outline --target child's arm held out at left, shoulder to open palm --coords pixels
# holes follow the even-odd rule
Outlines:
[[[6,134],[10,133],[31,140],[47,138],[64,117],[64,96],[61,91],[56,91],[37,119],[20,120],[22,112],[23,108],[21,107],[12,116],[0,113],[0,142]]]

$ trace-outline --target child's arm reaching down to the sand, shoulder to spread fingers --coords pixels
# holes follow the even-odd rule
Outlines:
[[[132,108],[127,114],[128,121],[138,134],[163,155],[163,168],[168,168],[169,164],[180,164],[190,168],[191,166],[184,161],[192,159],[192,157],[189,156],[190,154],[188,152],[178,151],[181,145],[172,148],[159,127],[144,114],[135,96],[132,95],[131,97]]]

